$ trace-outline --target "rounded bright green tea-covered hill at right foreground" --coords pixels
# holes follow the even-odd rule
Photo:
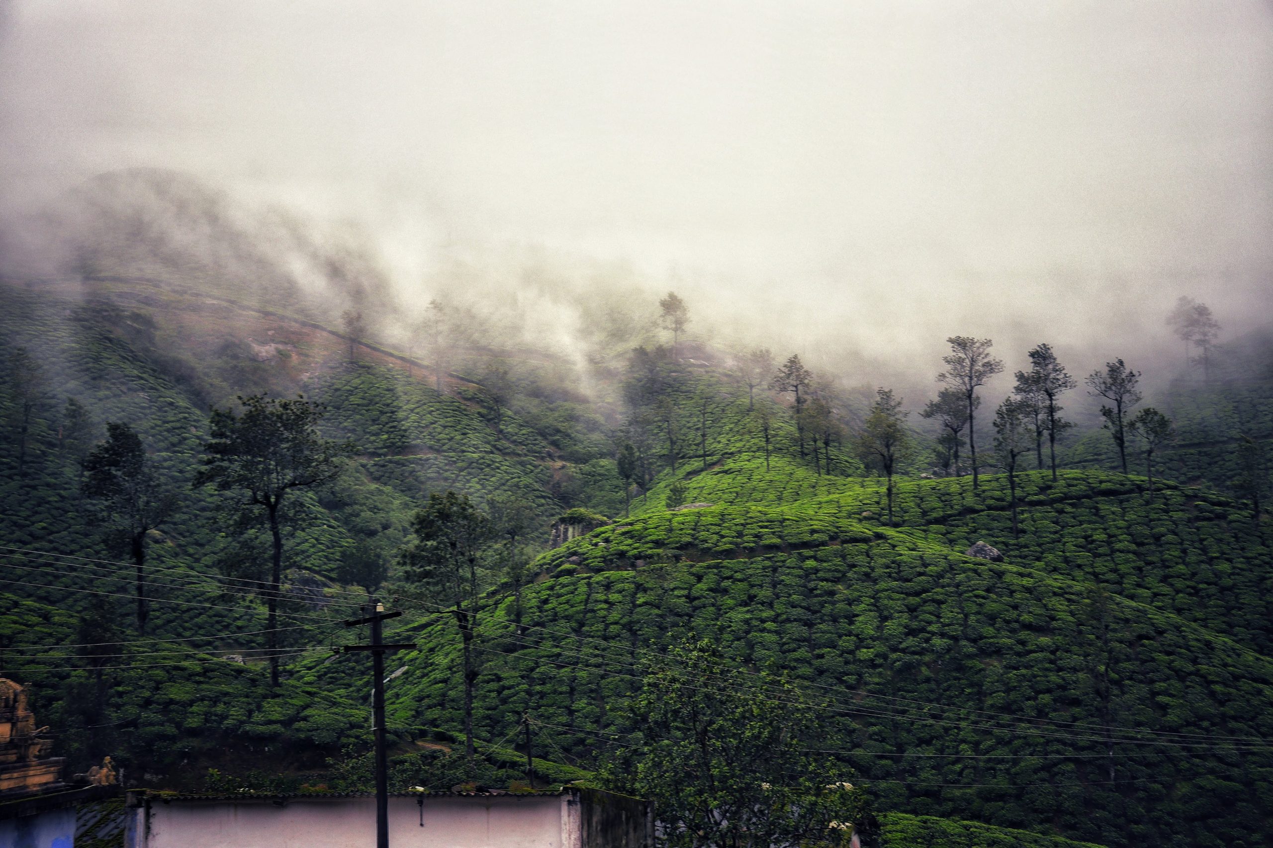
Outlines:
[[[886,807],[1106,845],[1267,844],[1268,539],[1249,513],[1175,485],[1151,500],[1122,475],[1026,475],[1016,540],[995,476],[908,481],[889,528],[875,481],[802,497],[824,489],[769,474],[726,461],[684,483],[715,505],[649,507],[545,554],[521,624],[491,595],[475,732],[531,709],[569,756],[602,755],[642,663],[694,632],[827,698],[841,761]],[[1006,562],[964,555],[976,540]],[[424,651],[402,657],[396,721],[457,726],[458,640],[406,633]],[[342,663],[306,680],[340,689]]]

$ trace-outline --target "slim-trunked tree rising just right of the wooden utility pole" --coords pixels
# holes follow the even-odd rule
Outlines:
[[[429,495],[429,503],[411,518],[412,541],[401,562],[409,579],[421,584],[435,604],[447,607],[460,629],[463,651],[465,758],[474,760],[474,658],[480,586],[477,564],[494,528],[466,495],[447,491]]]

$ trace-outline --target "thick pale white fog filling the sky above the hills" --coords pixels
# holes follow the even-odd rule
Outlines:
[[[694,334],[848,382],[931,381],[953,334],[1009,372],[1179,359],[1179,294],[1226,337],[1268,314],[1267,3],[3,9],[10,227],[173,169],[356,232],[406,312],[513,292],[565,343],[563,303],[675,288]]]

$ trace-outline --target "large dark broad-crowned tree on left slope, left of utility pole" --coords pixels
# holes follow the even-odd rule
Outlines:
[[[214,409],[211,439],[204,446],[204,467],[195,485],[211,485],[238,495],[244,519],[264,519],[270,531],[269,611],[270,682],[279,684],[279,598],[283,584],[283,505],[297,489],[311,489],[340,474],[353,446],[323,438],[318,432],[327,407],[297,396],[294,400],[239,396],[239,410]]]

